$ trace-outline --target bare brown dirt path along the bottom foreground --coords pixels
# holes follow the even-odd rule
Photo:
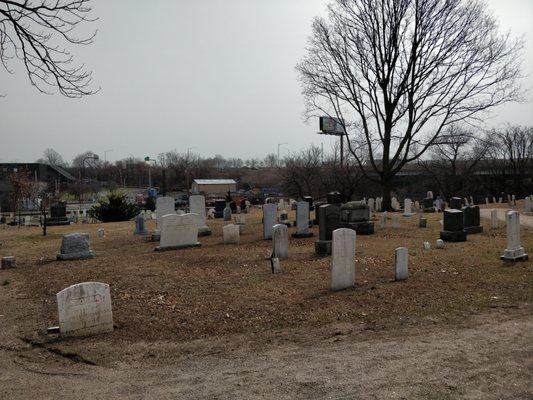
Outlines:
[[[105,367],[0,346],[0,398],[531,399],[533,317],[509,311],[461,326],[337,327],[319,340],[274,339],[259,349],[239,347],[242,338],[232,350],[135,344],[129,361]]]

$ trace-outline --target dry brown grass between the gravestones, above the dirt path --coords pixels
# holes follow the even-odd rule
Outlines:
[[[111,285],[118,329],[109,340],[192,339],[277,328],[311,329],[336,322],[380,323],[446,319],[489,307],[516,307],[532,298],[532,262],[504,264],[505,229],[471,235],[465,243],[434,247],[442,214],[401,218],[372,236],[358,236],[356,287],[329,291],[329,257],[314,254],[314,240],[290,238],[284,273],[272,275],[270,241],[261,238],[261,214],[247,215],[239,245],[223,245],[223,222],[208,221],[213,235],[201,248],[156,253],[156,243],[132,235],[134,223],[0,229],[1,255],[15,255],[19,268],[0,271],[1,291],[16,302],[4,313],[20,316],[30,333],[57,324],[55,294],[84,281]],[[150,222],[152,224],[152,222]],[[106,237],[97,238],[100,227]],[[294,228],[291,228],[291,231]],[[91,234],[93,260],[58,262],[61,235]],[[314,228],[315,236],[318,234]],[[522,242],[533,255],[533,235]],[[394,249],[409,248],[409,280],[394,282]],[[7,281],[9,283],[7,283]],[[5,293],[5,292],[4,292]],[[8,309],[6,309],[6,307]]]

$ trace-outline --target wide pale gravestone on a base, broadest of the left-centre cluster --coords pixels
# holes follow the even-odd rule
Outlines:
[[[196,214],[168,214],[161,219],[161,239],[156,251],[200,247]]]

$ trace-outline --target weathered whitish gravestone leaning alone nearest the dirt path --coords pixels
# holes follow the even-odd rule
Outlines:
[[[84,282],[57,295],[59,332],[62,336],[89,336],[113,332],[109,285]]]

